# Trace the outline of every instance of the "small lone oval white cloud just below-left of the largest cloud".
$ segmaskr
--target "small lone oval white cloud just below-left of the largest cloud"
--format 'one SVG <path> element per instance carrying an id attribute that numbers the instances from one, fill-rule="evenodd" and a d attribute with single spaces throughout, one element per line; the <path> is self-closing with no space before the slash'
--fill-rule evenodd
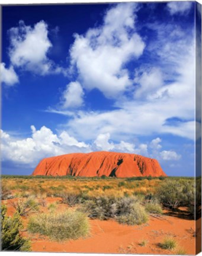
<path id="1" fill-rule="evenodd" d="M 70 82 L 62 93 L 61 104 L 62 108 L 81 107 L 84 100 L 84 91 L 79 82 Z"/>

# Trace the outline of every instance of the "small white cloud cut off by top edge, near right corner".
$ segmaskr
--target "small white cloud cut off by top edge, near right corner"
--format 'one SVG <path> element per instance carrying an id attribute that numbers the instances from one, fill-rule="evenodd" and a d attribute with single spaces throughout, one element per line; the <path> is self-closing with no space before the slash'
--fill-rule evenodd
<path id="1" fill-rule="evenodd" d="M 171 1 L 168 2 L 167 7 L 171 15 L 174 14 L 185 14 L 190 11 L 192 2 L 189 1 Z"/>

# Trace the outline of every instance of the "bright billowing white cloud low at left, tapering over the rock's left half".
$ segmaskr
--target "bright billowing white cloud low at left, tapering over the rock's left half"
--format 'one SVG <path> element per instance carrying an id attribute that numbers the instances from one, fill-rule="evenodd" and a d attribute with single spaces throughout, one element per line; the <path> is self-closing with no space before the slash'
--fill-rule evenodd
<path id="1" fill-rule="evenodd" d="M 12 161 L 36 167 L 40 159 L 45 157 L 90 151 L 88 145 L 84 142 L 78 142 L 66 132 L 57 136 L 46 126 L 41 127 L 40 130 L 31 126 L 31 131 L 30 137 L 20 139 L 1 130 L 2 161 Z"/>

